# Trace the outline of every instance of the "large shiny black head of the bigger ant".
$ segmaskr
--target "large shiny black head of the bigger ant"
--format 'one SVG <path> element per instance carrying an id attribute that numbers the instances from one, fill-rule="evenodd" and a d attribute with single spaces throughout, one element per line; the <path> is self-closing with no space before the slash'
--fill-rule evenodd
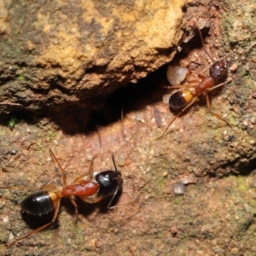
<path id="1" fill-rule="evenodd" d="M 102 197 L 113 195 L 111 201 L 108 203 L 108 208 L 110 208 L 113 198 L 117 195 L 123 183 L 123 178 L 121 177 L 121 173 L 117 171 L 113 155 L 112 160 L 115 171 L 100 172 L 95 177 L 96 182 L 100 186 L 99 195 L 102 195 Z"/>

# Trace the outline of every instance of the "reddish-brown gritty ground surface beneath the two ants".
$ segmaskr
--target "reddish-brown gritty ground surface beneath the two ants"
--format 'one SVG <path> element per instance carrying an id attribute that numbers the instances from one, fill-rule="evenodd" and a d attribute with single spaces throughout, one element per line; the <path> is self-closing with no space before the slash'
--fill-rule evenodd
<path id="1" fill-rule="evenodd" d="M 162 86 L 168 85 L 165 67 L 108 96 L 103 110 L 91 115 L 93 129 L 83 108 L 64 114 L 47 108 L 44 118 L 1 116 L 0 186 L 23 186 L 0 189 L 1 255 L 256 254 L 256 47 L 250 48 L 256 42 L 256 3 L 189 3 L 187 43 L 172 65 L 183 63 L 191 73 L 207 75 L 203 70 L 212 60 L 195 36 L 199 21 L 213 60 L 234 61 L 229 83 L 211 92 L 212 111 L 230 125 L 209 113 L 202 96 L 157 140 L 176 114 L 161 101 L 166 92 L 173 93 Z M 67 183 L 87 173 L 96 155 L 95 171 L 113 169 L 113 153 L 124 179 L 117 207 L 106 210 L 110 199 L 95 205 L 78 201 L 83 221 L 74 222 L 73 205 L 63 198 L 53 228 L 7 248 L 31 230 L 28 225 L 35 228 L 52 217 L 29 216 L 28 222 L 20 215 L 27 195 L 45 184 L 61 185 L 49 148 L 67 173 Z M 179 195 L 173 193 L 177 183 L 186 186 Z"/>

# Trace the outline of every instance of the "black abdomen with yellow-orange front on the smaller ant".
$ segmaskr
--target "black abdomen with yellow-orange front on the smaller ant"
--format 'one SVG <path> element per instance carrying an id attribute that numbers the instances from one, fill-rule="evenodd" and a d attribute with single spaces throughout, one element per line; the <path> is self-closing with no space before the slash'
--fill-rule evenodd
<path id="1" fill-rule="evenodd" d="M 189 102 L 191 102 L 193 98 L 193 93 L 191 90 L 178 90 L 169 99 L 169 106 L 171 108 L 183 108 Z"/>

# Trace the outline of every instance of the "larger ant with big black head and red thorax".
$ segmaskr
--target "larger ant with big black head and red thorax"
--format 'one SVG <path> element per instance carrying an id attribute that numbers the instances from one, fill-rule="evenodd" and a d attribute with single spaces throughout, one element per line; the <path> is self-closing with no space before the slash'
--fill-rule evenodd
<path id="1" fill-rule="evenodd" d="M 61 164 L 50 148 L 49 152 L 61 169 L 62 182 L 64 183 L 64 186 L 44 185 L 42 187 L 44 190 L 28 195 L 21 202 L 21 211 L 35 216 L 41 216 L 54 211 L 54 216 L 49 223 L 44 224 L 36 230 L 32 230 L 30 233 L 26 234 L 26 236 L 16 239 L 11 242 L 8 247 L 15 245 L 16 242 L 25 239 L 27 236 L 32 236 L 38 231 L 44 230 L 50 224 L 54 224 L 60 210 L 62 197 L 68 197 L 75 207 L 75 214 L 78 218 L 78 205 L 76 201 L 74 201 L 73 196 L 78 196 L 82 201 L 93 204 L 112 195 L 111 200 L 108 202 L 108 209 L 110 209 L 114 198 L 122 188 L 123 179 L 121 177 L 121 173 L 117 171 L 113 154 L 112 161 L 114 171 L 108 170 L 104 172 L 92 172 L 95 157 L 91 161 L 88 174 L 76 177 L 72 184 L 67 185 L 66 176 L 64 175 L 64 170 L 61 167 Z M 14 187 L 5 187 L 0 189 L 13 188 Z"/>

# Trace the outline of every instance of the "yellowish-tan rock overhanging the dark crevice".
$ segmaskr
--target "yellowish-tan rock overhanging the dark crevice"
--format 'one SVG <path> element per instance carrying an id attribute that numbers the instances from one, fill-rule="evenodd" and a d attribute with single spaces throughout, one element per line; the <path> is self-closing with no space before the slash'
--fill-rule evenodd
<path id="1" fill-rule="evenodd" d="M 2 2 L 0 101 L 102 108 L 115 88 L 172 60 L 185 3 Z"/>

